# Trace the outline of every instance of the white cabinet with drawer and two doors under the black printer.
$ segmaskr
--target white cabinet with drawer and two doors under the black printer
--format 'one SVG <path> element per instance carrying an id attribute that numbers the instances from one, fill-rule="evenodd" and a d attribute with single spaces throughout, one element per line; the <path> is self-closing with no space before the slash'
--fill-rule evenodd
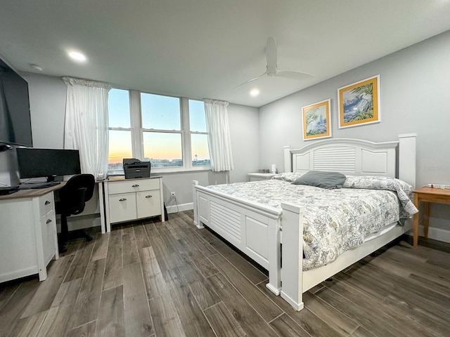
<path id="1" fill-rule="evenodd" d="M 162 178 L 105 180 L 106 231 L 111 223 L 161 216 L 164 221 Z"/>

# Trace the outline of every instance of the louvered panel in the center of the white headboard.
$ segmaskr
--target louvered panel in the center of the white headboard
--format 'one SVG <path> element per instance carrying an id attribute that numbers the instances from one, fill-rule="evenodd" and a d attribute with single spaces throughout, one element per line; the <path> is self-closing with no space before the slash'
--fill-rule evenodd
<path id="1" fill-rule="evenodd" d="M 314 151 L 314 170 L 354 172 L 356 150 L 354 147 L 327 147 Z"/>

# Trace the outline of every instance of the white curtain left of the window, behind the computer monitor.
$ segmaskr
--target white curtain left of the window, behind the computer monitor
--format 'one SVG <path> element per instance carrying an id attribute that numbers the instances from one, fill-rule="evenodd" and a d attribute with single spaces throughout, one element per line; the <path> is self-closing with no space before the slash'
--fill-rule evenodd
<path id="1" fill-rule="evenodd" d="M 68 85 L 64 148 L 79 150 L 82 173 L 108 172 L 108 84 L 63 77 Z"/>

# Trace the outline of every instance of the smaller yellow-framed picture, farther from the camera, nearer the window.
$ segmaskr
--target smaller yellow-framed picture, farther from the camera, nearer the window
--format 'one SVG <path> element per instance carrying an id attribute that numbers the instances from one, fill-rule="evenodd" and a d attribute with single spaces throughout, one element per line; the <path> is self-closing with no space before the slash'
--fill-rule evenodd
<path id="1" fill-rule="evenodd" d="M 302 107 L 303 140 L 331 137 L 331 100 Z"/>

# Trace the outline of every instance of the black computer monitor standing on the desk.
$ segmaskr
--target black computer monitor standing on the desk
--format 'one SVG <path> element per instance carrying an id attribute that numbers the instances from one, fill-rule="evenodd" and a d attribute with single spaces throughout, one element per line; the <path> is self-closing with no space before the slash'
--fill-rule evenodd
<path id="1" fill-rule="evenodd" d="M 18 147 L 17 161 L 20 179 L 71 176 L 81 173 L 78 150 L 53 150 Z"/>

